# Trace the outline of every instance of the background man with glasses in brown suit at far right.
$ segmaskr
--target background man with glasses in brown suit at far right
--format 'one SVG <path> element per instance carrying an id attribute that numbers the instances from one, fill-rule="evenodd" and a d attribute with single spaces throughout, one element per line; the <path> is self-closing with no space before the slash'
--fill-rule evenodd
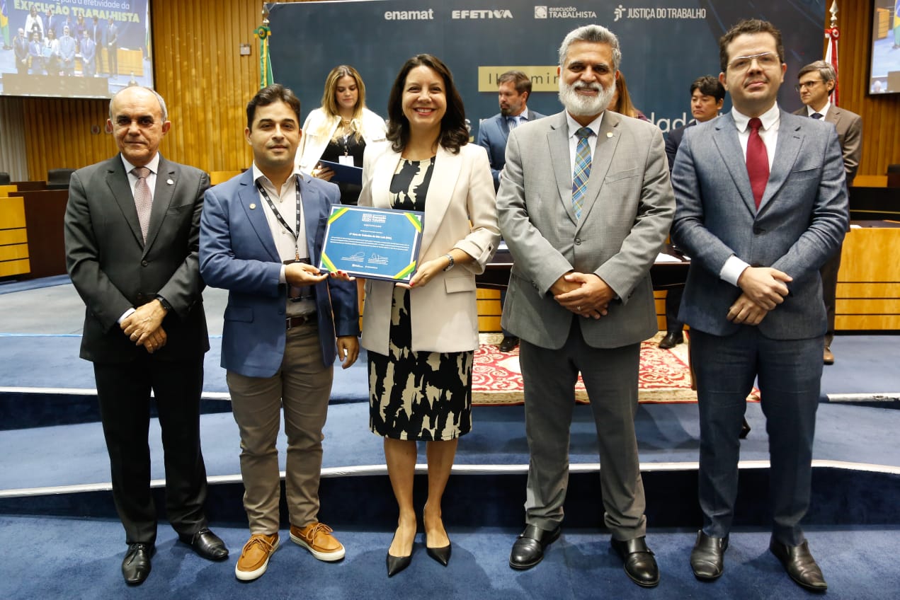
<path id="1" fill-rule="evenodd" d="M 838 141 L 841 143 L 841 151 L 844 159 L 844 175 L 847 176 L 847 188 L 853 184 L 856 171 L 860 168 L 860 155 L 862 154 L 862 117 L 855 112 L 838 108 L 831 103 L 829 96 L 837 85 L 837 75 L 834 67 L 824 60 L 816 60 L 800 69 L 797 74 L 799 83 L 797 91 L 800 93 L 800 101 L 806 106 L 794 112 L 813 119 L 833 123 L 838 131 Z M 834 340 L 834 304 L 838 288 L 838 271 L 841 269 L 842 246 L 829 258 L 819 273 L 822 275 L 822 299 L 825 302 L 825 310 L 828 313 L 828 331 L 825 332 L 825 348 L 823 362 L 834 363 L 832 342 Z"/>

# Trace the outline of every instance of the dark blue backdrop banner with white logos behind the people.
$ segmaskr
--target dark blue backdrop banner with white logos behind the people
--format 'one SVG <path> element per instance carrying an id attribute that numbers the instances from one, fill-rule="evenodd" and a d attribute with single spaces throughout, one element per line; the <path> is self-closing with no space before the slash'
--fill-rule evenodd
<path id="1" fill-rule="evenodd" d="M 553 114 L 558 49 L 565 34 L 598 23 L 617 34 L 622 72 L 635 106 L 668 131 L 690 119 L 689 87 L 718 76 L 718 39 L 755 17 L 781 30 L 788 73 L 779 94 L 786 110 L 801 106 L 797 71 L 823 56 L 824 0 L 363 0 L 266 4 L 275 81 L 293 89 L 303 116 L 318 108 L 329 70 L 347 64 L 365 81 L 368 107 L 386 116 L 394 77 L 407 58 L 434 54 L 454 73 L 466 117 L 478 123 L 500 112 L 496 77 L 518 68 L 532 78 L 528 107 Z M 725 100 L 725 109 L 730 103 Z"/>

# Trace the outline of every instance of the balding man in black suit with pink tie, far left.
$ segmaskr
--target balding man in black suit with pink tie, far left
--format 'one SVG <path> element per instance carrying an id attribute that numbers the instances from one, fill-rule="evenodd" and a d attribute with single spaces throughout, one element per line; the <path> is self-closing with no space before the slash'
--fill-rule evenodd
<path id="1" fill-rule="evenodd" d="M 209 350 L 197 265 L 202 198 L 210 181 L 163 158 L 171 123 L 156 92 L 112 97 L 121 154 L 78 169 L 69 184 L 66 262 L 85 300 L 81 357 L 94 363 L 112 497 L 129 550 L 129 584 L 150 572 L 157 515 L 147 442 L 152 390 L 166 454 L 166 514 L 182 542 L 205 559 L 228 557 L 207 527 L 200 450 L 203 353 Z"/>

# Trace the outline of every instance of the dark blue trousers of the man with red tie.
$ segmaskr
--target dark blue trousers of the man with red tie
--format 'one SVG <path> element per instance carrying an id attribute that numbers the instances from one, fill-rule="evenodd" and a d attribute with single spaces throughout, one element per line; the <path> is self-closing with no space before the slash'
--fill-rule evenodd
<path id="1" fill-rule="evenodd" d="M 822 337 L 775 340 L 750 326 L 731 336 L 712 336 L 697 329 L 690 333 L 700 412 L 703 531 L 725 537 L 731 530 L 737 497 L 738 434 L 747 395 L 756 379 L 769 434 L 772 534 L 782 543 L 802 543 L 800 520 L 809 507 Z"/>

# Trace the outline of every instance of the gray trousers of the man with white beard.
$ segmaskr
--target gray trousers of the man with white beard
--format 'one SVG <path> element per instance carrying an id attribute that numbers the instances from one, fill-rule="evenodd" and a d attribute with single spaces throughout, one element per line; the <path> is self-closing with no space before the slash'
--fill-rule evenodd
<path id="1" fill-rule="evenodd" d="M 522 340 L 528 468 L 526 522 L 552 530 L 563 521 L 569 483 L 569 431 L 578 373 L 590 398 L 599 439 L 604 522 L 617 540 L 646 531 L 644 482 L 637 456 L 635 412 L 640 344 L 593 348 L 578 317 L 565 345 L 550 350 Z"/>

